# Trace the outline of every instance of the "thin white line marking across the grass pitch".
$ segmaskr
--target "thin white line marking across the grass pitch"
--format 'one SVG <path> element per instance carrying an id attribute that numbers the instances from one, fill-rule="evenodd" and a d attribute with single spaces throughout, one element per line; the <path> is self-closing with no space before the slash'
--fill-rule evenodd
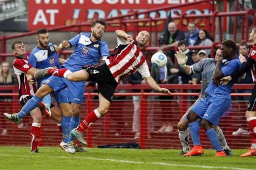
<path id="1" fill-rule="evenodd" d="M 213 169 L 245 169 L 246 168 L 234 168 L 234 167 L 221 167 L 221 166 L 199 166 L 199 165 L 182 165 L 182 164 L 167 164 L 164 162 L 136 162 L 136 161 L 129 161 L 129 160 L 118 160 L 118 159 L 104 159 L 104 158 L 91 158 L 91 157 L 55 157 L 55 156 L 37 156 L 37 155 L 10 155 L 10 154 L 0 154 L 0 156 L 3 157 L 25 157 L 25 158 L 63 158 L 63 159 L 69 159 L 69 158 L 75 158 L 75 159 L 89 159 L 89 160 L 103 160 L 103 161 L 112 161 L 112 162 L 123 162 L 127 164 L 152 164 L 152 165 L 164 165 L 164 166 L 182 166 L 182 167 L 195 167 L 195 168 L 213 168 Z"/>

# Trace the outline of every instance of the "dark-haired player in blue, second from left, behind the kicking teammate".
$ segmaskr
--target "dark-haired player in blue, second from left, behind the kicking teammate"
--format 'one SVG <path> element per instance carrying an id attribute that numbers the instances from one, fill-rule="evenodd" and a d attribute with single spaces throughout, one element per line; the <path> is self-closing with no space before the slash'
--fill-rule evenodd
<path id="1" fill-rule="evenodd" d="M 44 28 L 38 29 L 36 40 L 38 44 L 32 49 L 32 52 L 29 55 L 29 64 L 33 68 L 39 69 L 48 67 L 60 68 L 60 64 L 63 64 L 65 60 L 58 58 L 55 47 L 53 44 L 49 43 L 50 37 L 48 30 Z M 41 87 L 49 77 L 50 76 L 45 76 L 42 79 L 38 79 L 38 88 Z M 68 140 L 70 135 L 69 126 L 71 120 L 71 106 L 68 100 L 68 89 L 63 89 L 58 93 L 53 93 L 53 95 L 55 96 L 57 104 L 63 113 L 60 123 L 62 127 L 63 141 L 59 144 L 59 146 L 68 152 Z M 43 102 L 39 103 L 39 108 L 43 111 L 50 112 L 50 106 L 51 96 L 48 94 L 44 96 Z"/>

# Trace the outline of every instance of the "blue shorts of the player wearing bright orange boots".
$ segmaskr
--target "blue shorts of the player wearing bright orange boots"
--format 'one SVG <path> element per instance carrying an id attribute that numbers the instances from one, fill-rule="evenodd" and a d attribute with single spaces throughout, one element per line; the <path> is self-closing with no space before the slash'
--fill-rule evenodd
<path id="1" fill-rule="evenodd" d="M 218 126 L 221 116 L 230 107 L 231 100 L 207 96 L 199 101 L 193 108 L 200 118 L 206 119 L 213 125 Z"/>

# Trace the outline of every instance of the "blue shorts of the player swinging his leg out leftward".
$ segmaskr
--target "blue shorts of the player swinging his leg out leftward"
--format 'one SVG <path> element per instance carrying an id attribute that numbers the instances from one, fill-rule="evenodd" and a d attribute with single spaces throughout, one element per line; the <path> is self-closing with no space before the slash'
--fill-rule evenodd
<path id="1" fill-rule="evenodd" d="M 84 98 L 85 81 L 82 81 L 82 82 L 68 81 L 62 77 L 51 76 L 44 83 L 50 86 L 51 89 L 55 92 L 62 91 L 63 89 L 68 87 L 69 102 L 82 104 L 83 98 Z"/>

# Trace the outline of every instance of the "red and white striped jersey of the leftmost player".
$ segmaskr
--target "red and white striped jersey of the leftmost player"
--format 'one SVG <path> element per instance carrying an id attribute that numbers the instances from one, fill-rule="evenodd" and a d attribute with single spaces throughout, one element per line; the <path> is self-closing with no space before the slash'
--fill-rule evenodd
<path id="1" fill-rule="evenodd" d="M 32 66 L 28 64 L 28 56 L 26 56 L 26 58 L 24 59 L 19 56 L 16 56 L 12 64 L 14 66 L 14 72 L 19 85 L 19 100 L 27 96 L 35 95 L 35 83 L 29 84 L 28 80 L 26 79 L 26 72 L 28 72 L 28 70 L 32 68 Z"/>

